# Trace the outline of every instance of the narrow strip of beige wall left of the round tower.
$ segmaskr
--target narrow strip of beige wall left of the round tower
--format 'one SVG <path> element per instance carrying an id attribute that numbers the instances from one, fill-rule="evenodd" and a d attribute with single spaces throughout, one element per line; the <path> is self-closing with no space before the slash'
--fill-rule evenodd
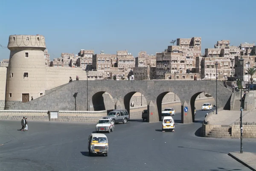
<path id="1" fill-rule="evenodd" d="M 6 74 L 7 74 L 7 68 L 0 67 L 0 110 L 4 110 L 4 106 L 5 106 Z"/>

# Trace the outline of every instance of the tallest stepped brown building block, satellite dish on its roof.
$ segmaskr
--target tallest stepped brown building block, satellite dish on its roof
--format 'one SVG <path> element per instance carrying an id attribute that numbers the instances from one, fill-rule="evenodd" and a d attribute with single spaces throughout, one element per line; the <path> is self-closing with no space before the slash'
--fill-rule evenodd
<path id="1" fill-rule="evenodd" d="M 201 56 L 201 38 L 177 38 L 177 46 L 168 46 L 164 52 L 156 54 L 157 79 L 165 79 L 166 74 L 196 72 L 195 59 L 199 56 Z"/>

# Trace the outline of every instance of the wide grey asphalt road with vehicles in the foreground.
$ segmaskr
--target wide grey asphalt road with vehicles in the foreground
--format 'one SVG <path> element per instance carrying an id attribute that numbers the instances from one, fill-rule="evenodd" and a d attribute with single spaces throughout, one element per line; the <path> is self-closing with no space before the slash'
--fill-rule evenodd
<path id="1" fill-rule="evenodd" d="M 176 123 L 175 132 L 161 132 L 161 122 L 117 124 L 106 133 L 108 157 L 88 156 L 95 124 L 29 122 L 22 132 L 19 121 L 0 121 L 0 171 L 250 171 L 227 155 L 239 151 L 239 139 L 195 135 L 205 113 L 197 111 L 197 123 Z M 244 151 L 256 152 L 255 142 L 244 139 Z"/>

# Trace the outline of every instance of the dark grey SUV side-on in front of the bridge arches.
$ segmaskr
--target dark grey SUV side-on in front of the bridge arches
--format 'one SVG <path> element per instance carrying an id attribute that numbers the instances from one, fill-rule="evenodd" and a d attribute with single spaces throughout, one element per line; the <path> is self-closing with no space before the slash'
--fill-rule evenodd
<path id="1" fill-rule="evenodd" d="M 103 117 L 103 119 L 111 119 L 113 120 L 114 124 L 118 122 L 122 122 L 126 124 L 130 121 L 130 116 L 126 109 L 115 109 L 108 113 L 108 116 Z"/>

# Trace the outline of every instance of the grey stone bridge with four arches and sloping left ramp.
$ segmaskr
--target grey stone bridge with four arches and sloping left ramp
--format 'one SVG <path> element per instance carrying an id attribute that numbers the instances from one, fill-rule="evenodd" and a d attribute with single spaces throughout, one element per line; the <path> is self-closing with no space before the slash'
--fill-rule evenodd
<path id="1" fill-rule="evenodd" d="M 163 97 L 169 93 L 175 93 L 181 102 L 181 122 L 194 122 L 194 106 L 196 97 L 202 93 L 209 93 L 217 100 L 218 109 L 230 110 L 232 89 L 224 87 L 221 81 L 169 81 L 169 80 L 145 80 L 145 81 L 73 81 L 52 90 L 46 95 L 26 103 L 15 103 L 9 107 L 13 110 L 94 110 L 93 105 L 102 101 L 102 94 L 107 92 L 113 97 L 115 109 L 127 109 L 130 111 L 130 99 L 134 93 L 142 93 L 148 104 L 149 122 L 160 120 Z M 88 96 L 87 96 L 88 92 Z M 188 111 L 184 111 L 188 107 Z"/>

